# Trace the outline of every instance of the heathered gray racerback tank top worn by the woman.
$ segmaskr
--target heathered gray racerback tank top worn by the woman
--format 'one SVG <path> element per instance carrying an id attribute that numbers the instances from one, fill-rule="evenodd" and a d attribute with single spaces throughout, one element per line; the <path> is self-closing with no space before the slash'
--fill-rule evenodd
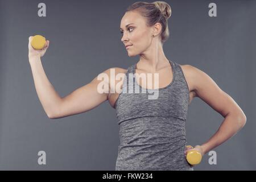
<path id="1" fill-rule="evenodd" d="M 170 64 L 172 81 L 159 89 L 142 88 L 135 77 L 130 82 L 136 64 L 127 69 L 127 81 L 114 105 L 120 139 L 115 170 L 193 171 L 184 155 L 188 85 L 180 65 L 171 60 Z M 158 98 L 148 99 L 157 90 Z"/>

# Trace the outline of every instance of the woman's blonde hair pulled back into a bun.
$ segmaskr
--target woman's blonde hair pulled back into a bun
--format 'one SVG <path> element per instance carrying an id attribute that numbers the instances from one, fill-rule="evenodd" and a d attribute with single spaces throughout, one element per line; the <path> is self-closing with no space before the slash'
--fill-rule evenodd
<path id="1" fill-rule="evenodd" d="M 138 11 L 144 18 L 146 18 L 146 24 L 148 27 L 153 26 L 155 23 L 162 25 L 161 42 L 162 44 L 170 36 L 168 30 L 168 19 L 171 17 L 171 6 L 164 1 L 148 2 L 135 2 L 130 5 L 127 11 Z"/>

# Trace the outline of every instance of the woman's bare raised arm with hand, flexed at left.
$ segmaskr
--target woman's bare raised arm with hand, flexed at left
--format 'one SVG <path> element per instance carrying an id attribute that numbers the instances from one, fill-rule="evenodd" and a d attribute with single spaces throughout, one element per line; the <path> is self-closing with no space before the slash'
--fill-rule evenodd
<path id="1" fill-rule="evenodd" d="M 89 84 L 61 98 L 53 88 L 51 82 L 49 82 L 40 59 L 49 47 L 49 41 L 47 40 L 46 46 L 42 50 L 35 50 L 31 47 L 31 40 L 32 37 L 29 38 L 28 43 L 28 59 L 31 65 L 36 92 L 49 118 L 61 118 L 83 113 L 108 100 L 108 93 L 99 93 L 97 91 L 98 83 L 102 82 L 101 80 L 97 80 L 97 77 Z M 110 69 L 103 73 L 108 75 Z M 108 83 L 106 84 L 109 85 Z"/>

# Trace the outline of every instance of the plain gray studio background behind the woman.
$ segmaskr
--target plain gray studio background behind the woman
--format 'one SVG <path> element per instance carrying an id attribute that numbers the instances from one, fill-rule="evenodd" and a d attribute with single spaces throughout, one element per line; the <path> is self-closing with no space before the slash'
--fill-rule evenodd
<path id="1" fill-rule="evenodd" d="M 47 16 L 37 14 L 38 3 Z M 108 101 L 86 113 L 49 119 L 36 94 L 28 37 L 50 40 L 42 57 L 44 71 L 61 97 L 88 84 L 105 69 L 127 69 L 139 57 L 127 56 L 119 26 L 135 1 L 0 1 L 0 169 L 114 170 L 119 136 L 115 110 Z M 151 1 L 152 2 L 152 1 Z M 255 170 L 256 1 L 166 1 L 170 39 L 168 59 L 207 73 L 245 112 L 247 123 L 233 138 L 214 148 L 195 170 Z M 217 17 L 208 5 L 217 4 Z M 187 117 L 187 142 L 207 141 L 223 117 L 195 98 Z M 38 151 L 46 151 L 46 165 Z"/>

